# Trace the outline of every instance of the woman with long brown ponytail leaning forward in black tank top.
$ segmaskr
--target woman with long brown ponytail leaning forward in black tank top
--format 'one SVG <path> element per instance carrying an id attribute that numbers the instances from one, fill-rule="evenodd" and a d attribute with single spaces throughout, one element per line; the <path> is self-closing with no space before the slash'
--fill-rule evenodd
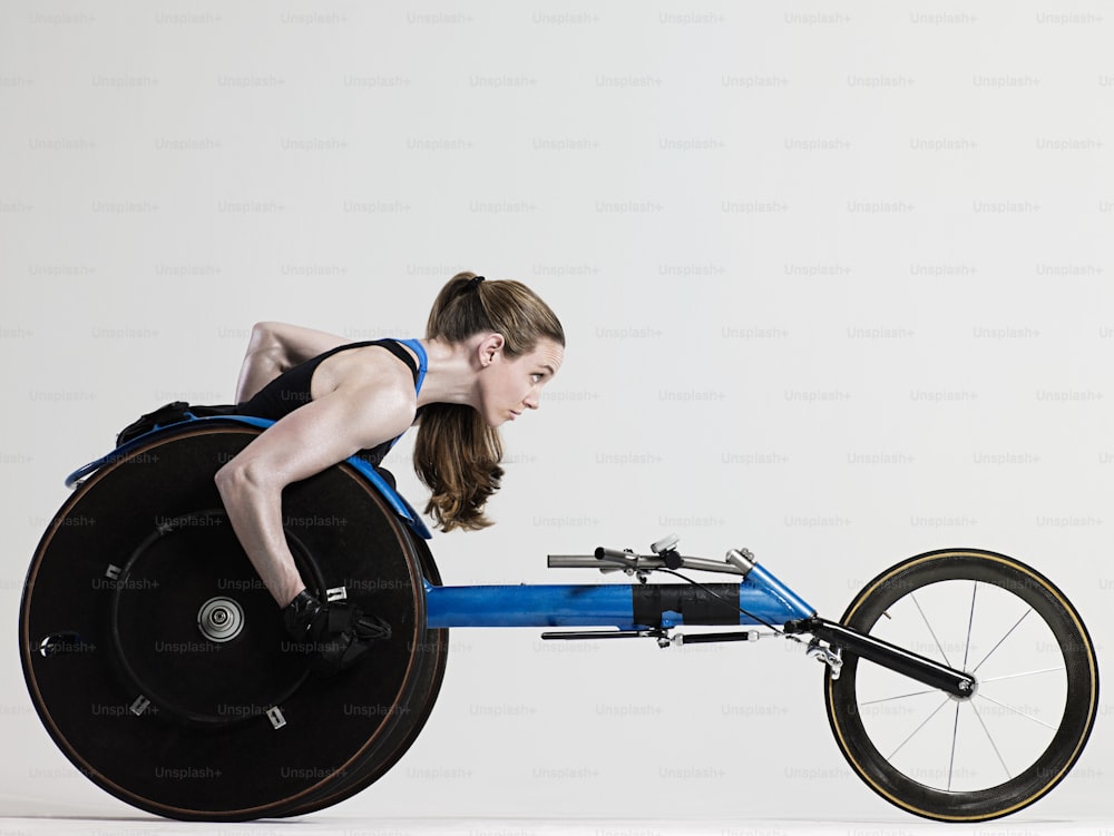
<path id="1" fill-rule="evenodd" d="M 564 358 L 554 312 L 512 281 L 460 273 L 433 302 L 423 340 L 348 343 L 260 323 L 236 391 L 236 412 L 274 420 L 216 473 L 228 519 L 287 631 L 324 675 L 352 665 L 389 627 L 311 592 L 282 525 L 283 488 L 353 454 L 379 465 L 417 423 L 413 462 L 446 531 L 490 524 L 499 488 L 497 427 L 539 405 Z"/>

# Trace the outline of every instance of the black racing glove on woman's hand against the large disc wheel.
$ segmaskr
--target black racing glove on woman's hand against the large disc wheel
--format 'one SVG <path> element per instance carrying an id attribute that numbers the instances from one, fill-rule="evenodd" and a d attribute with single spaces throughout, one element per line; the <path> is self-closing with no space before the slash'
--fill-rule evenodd
<path id="1" fill-rule="evenodd" d="M 391 628 L 380 618 L 363 614 L 346 601 L 322 602 L 307 589 L 283 610 L 286 632 L 314 655 L 311 668 L 331 677 L 355 665 L 377 639 L 391 638 Z"/>

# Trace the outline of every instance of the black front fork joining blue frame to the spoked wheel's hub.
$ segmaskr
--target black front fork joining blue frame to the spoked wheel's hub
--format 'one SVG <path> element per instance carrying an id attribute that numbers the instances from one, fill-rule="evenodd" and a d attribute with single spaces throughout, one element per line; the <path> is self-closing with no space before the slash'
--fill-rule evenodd
<path id="1" fill-rule="evenodd" d="M 786 621 L 784 630 L 789 635 L 811 633 L 814 638 L 809 645 L 810 657 L 819 658 L 829 665 L 832 678 L 839 677 L 843 665 L 843 652 L 862 659 L 869 659 L 876 665 L 902 673 L 918 682 L 956 697 L 970 699 L 975 696 L 975 677 L 961 670 L 940 665 L 924 656 L 890 645 L 888 641 L 859 632 L 851 627 L 829 621 L 813 616 L 798 621 Z M 828 647 L 819 645 L 818 640 L 827 641 Z"/>

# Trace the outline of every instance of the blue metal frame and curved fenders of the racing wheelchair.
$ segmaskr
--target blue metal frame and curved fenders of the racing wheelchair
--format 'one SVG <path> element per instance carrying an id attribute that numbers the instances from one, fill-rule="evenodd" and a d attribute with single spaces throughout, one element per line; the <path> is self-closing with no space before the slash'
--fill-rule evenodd
<path id="1" fill-rule="evenodd" d="M 68 488 L 99 468 L 124 458 L 152 439 L 198 422 L 234 421 L 266 429 L 273 421 L 248 415 L 197 417 L 186 413 L 184 421 L 158 426 L 116 447 L 111 453 L 78 468 L 66 478 Z M 413 508 L 368 462 L 346 460 L 383 496 L 391 509 L 422 539 L 430 532 Z M 431 628 L 442 627 L 618 627 L 620 629 L 672 628 L 686 623 L 680 612 L 667 610 L 653 624 L 635 621 L 635 590 L 639 584 L 504 584 L 442 587 L 424 582 L 426 620 Z M 740 624 L 784 624 L 811 618 L 817 611 L 762 565 L 755 565 L 739 584 Z M 701 623 L 688 620 L 687 623 Z M 722 623 L 722 621 L 716 621 Z"/>

